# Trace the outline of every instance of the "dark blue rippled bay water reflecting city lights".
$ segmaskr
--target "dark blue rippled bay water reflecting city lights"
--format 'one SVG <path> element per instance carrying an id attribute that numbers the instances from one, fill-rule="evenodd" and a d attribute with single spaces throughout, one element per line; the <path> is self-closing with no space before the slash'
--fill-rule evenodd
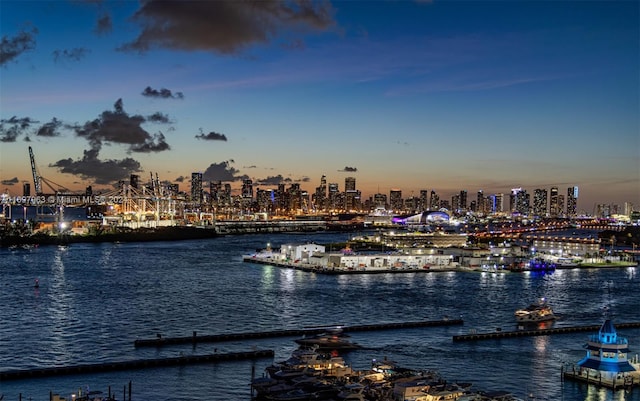
<path id="1" fill-rule="evenodd" d="M 344 241 L 346 234 L 231 236 L 213 240 L 72 244 L 0 249 L 0 369 L 21 369 L 273 349 L 289 356 L 294 338 L 135 348 L 137 338 L 298 329 L 316 325 L 462 318 L 462 326 L 353 333 L 366 348 L 346 359 L 365 369 L 388 357 L 435 369 L 476 389 L 538 400 L 639 401 L 627 394 L 561 382 L 563 362 L 584 355 L 592 333 L 456 342 L 452 336 L 515 329 L 513 311 L 547 297 L 555 327 L 640 321 L 638 268 L 532 273 L 403 273 L 323 276 L 243 263 L 267 243 Z M 38 279 L 39 288 L 34 288 Z M 640 329 L 619 330 L 640 352 Z M 45 401 L 87 385 L 134 400 L 249 400 L 251 371 L 272 362 L 233 361 L 0 382 L 4 401 Z"/>

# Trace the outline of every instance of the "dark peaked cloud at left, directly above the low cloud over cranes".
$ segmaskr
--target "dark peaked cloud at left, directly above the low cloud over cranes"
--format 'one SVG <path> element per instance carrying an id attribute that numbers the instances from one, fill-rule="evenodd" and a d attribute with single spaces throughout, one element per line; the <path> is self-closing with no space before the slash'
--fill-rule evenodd
<path id="1" fill-rule="evenodd" d="M 76 135 L 87 139 L 98 151 L 105 142 L 129 145 L 132 152 L 170 149 L 162 133 L 151 135 L 141 127 L 147 121 L 143 116 L 129 115 L 124 111 L 122 99 L 118 99 L 113 107 L 114 111 L 103 111 L 99 118 L 76 127 Z"/>

